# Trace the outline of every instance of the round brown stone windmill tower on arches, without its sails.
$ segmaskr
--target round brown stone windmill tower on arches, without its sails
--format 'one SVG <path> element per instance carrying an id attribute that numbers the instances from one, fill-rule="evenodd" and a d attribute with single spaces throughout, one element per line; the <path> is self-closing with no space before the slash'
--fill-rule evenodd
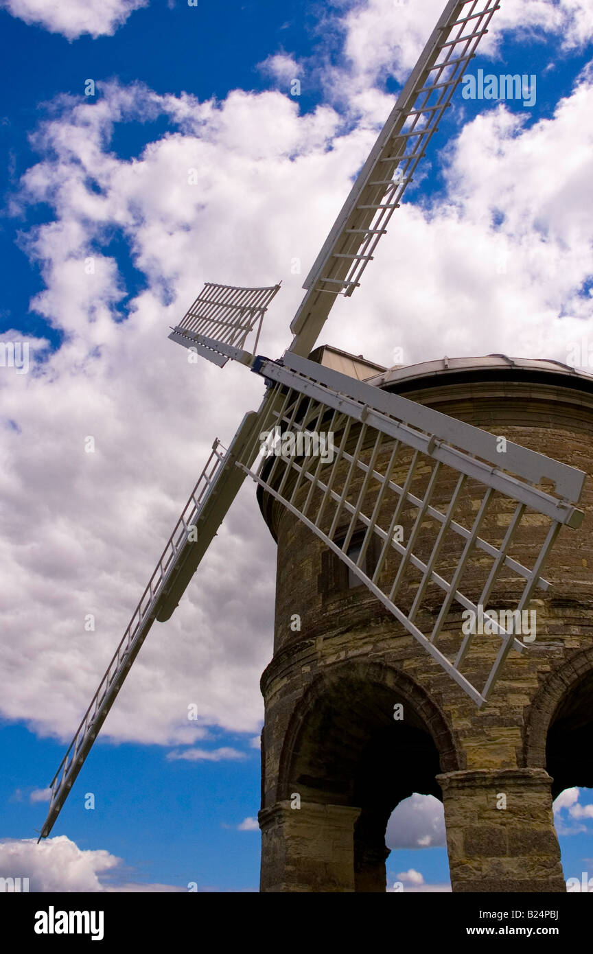
<path id="1" fill-rule="evenodd" d="M 359 359 L 331 348 L 315 357 L 350 364 L 353 375 L 364 371 Z M 381 390 L 592 475 L 592 375 L 504 355 L 366 371 Z M 428 479 L 420 469 L 411 494 L 422 499 Z M 362 480 L 361 474 L 352 499 Z M 413 792 L 444 803 L 454 891 L 565 890 L 552 799 L 573 785 L 593 787 L 593 764 L 583 755 L 593 742 L 592 486 L 586 482 L 583 527 L 577 537 L 562 530 L 546 565 L 549 588 L 529 604 L 525 629 L 535 623 L 535 632 L 523 633 L 524 652 L 509 655 L 481 709 L 334 553 L 265 491 L 259 494 L 278 546 L 274 658 L 261 680 L 263 891 L 385 891 L 385 828 Z M 451 496 L 445 481 L 432 504 L 445 513 Z M 480 506 L 481 495 L 461 493 L 464 527 Z M 401 518 L 404 539 L 417 513 Z M 510 508 L 494 514 L 501 534 L 512 519 Z M 438 531 L 431 532 L 430 519 L 422 523 L 428 563 Z M 528 560 L 539 548 L 543 525 L 541 514 L 526 518 L 516 557 Z M 343 533 L 344 527 L 337 539 Z M 352 537 L 353 559 L 361 538 L 360 530 Z M 377 550 L 367 551 L 368 573 L 376 561 Z M 447 563 L 441 559 L 443 572 Z M 478 557 L 468 568 L 466 592 L 481 591 L 484 563 L 490 561 Z M 511 574 L 502 575 L 499 599 L 489 604 L 498 610 L 517 605 Z M 399 607 L 413 605 L 421 579 L 410 574 Z M 440 602 L 425 600 L 417 617 L 423 633 L 433 630 Z M 299 632 L 291 623 L 295 612 Z M 440 645 L 459 646 L 461 616 L 459 606 Z M 487 630 L 478 622 L 480 628 Z M 478 682 L 500 644 L 487 633 L 475 640 L 480 645 L 465 672 Z"/>

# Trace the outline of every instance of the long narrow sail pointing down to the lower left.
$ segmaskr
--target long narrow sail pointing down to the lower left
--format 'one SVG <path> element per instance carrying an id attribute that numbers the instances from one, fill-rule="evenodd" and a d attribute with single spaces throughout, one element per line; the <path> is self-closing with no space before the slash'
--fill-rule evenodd
<path id="1" fill-rule="evenodd" d="M 174 612 L 182 593 L 212 542 L 215 532 L 233 503 L 245 473 L 236 460 L 251 460 L 256 454 L 255 435 L 259 415 L 246 414 L 228 450 L 215 441 L 206 467 L 188 500 L 167 546 L 142 594 L 132 619 L 113 653 L 106 673 L 92 696 L 91 705 L 76 730 L 68 751 L 51 779 L 51 802 L 40 839 L 47 838 L 92 743 L 112 708 L 124 679 L 154 620 L 162 622 Z M 254 451 L 250 453 L 250 448 Z"/>

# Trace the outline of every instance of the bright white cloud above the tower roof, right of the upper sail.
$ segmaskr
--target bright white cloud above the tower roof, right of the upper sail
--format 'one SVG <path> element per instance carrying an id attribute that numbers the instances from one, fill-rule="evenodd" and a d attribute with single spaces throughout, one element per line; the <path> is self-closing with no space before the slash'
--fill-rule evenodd
<path id="1" fill-rule="evenodd" d="M 404 363 L 501 352 L 567 361 L 591 317 L 582 288 L 593 238 L 583 203 L 593 171 L 592 90 L 583 75 L 552 119 L 528 128 L 501 107 L 463 128 L 446 157 L 446 196 L 424 211 L 410 195 L 378 247 L 373 278 L 365 275 L 358 315 L 373 316 L 368 357 L 380 362 L 399 345 Z M 341 346 L 358 353 L 351 321 Z"/>

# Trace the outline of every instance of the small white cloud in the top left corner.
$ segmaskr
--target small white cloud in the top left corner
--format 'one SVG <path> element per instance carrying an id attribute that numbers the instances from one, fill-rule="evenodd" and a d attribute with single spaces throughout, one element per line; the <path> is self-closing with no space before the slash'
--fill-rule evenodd
<path id="1" fill-rule="evenodd" d="M 25 23 L 62 33 L 75 40 L 83 33 L 111 36 L 126 22 L 133 10 L 148 6 L 149 0 L 2 0 L 2 6 Z"/>

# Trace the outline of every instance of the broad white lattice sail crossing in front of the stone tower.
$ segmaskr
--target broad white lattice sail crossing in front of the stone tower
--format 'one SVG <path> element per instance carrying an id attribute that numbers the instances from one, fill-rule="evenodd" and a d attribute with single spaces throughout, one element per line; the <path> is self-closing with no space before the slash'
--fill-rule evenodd
<path id="1" fill-rule="evenodd" d="M 482 706 L 506 655 L 523 644 L 514 626 L 494 620 L 501 647 L 479 687 L 461 672 L 476 633 L 459 635 L 451 657 L 460 626 L 445 628 L 456 612 L 477 620 L 512 600 L 514 620 L 536 588 L 547 589 L 542 568 L 560 529 L 583 519 L 583 472 L 294 354 L 284 365 L 258 360 L 254 370 L 276 383 L 262 426 L 279 429 L 280 450 L 276 442 L 272 460 L 238 467 L 337 553 Z M 317 437 L 317 453 L 298 451 L 303 434 L 309 444 Z M 293 449 L 283 451 L 291 436 Z M 441 636 L 449 654 L 437 645 Z"/>

